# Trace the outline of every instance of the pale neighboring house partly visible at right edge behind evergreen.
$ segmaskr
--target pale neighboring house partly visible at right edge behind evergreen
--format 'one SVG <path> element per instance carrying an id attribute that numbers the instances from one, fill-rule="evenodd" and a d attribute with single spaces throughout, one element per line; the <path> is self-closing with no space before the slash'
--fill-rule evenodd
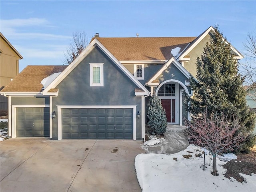
<path id="1" fill-rule="evenodd" d="M 246 101 L 250 109 L 256 113 L 256 82 L 252 85 L 244 86 L 246 90 Z M 254 128 L 254 133 L 256 134 L 256 124 Z"/>

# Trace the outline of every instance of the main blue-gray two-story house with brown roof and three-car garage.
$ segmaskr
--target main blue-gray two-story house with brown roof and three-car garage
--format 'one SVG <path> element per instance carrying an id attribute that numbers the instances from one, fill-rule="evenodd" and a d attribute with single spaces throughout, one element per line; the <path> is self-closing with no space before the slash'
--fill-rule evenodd
<path id="1" fill-rule="evenodd" d="M 27 66 L 2 94 L 14 137 L 145 138 L 148 96 L 156 94 L 168 124 L 189 118 L 190 73 L 214 28 L 198 37 L 100 38 L 69 66 Z M 237 59 L 243 56 L 232 47 Z"/>

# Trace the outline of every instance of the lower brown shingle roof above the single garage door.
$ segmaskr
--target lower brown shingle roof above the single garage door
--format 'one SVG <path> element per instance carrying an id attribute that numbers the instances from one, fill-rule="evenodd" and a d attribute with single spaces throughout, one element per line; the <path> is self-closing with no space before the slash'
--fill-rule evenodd
<path id="1" fill-rule="evenodd" d="M 67 66 L 27 66 L 1 92 L 41 92 L 41 81 L 51 74 L 62 72 Z"/>

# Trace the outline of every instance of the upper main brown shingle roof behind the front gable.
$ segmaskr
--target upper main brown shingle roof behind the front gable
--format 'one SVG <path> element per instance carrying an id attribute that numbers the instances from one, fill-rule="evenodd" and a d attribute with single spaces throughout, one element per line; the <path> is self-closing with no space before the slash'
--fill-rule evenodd
<path id="1" fill-rule="evenodd" d="M 97 37 L 96 39 L 119 61 L 127 61 L 169 60 L 172 58 L 172 49 L 180 47 L 182 52 L 196 37 Z"/>

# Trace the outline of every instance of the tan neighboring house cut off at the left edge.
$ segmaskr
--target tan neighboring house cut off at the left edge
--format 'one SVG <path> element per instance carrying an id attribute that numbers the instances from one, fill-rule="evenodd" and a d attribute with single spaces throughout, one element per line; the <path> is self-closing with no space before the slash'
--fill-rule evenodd
<path id="1" fill-rule="evenodd" d="M 19 60 L 23 57 L 0 32 L 0 90 L 19 74 Z M 8 98 L 0 96 L 1 114 L 8 110 Z"/>

